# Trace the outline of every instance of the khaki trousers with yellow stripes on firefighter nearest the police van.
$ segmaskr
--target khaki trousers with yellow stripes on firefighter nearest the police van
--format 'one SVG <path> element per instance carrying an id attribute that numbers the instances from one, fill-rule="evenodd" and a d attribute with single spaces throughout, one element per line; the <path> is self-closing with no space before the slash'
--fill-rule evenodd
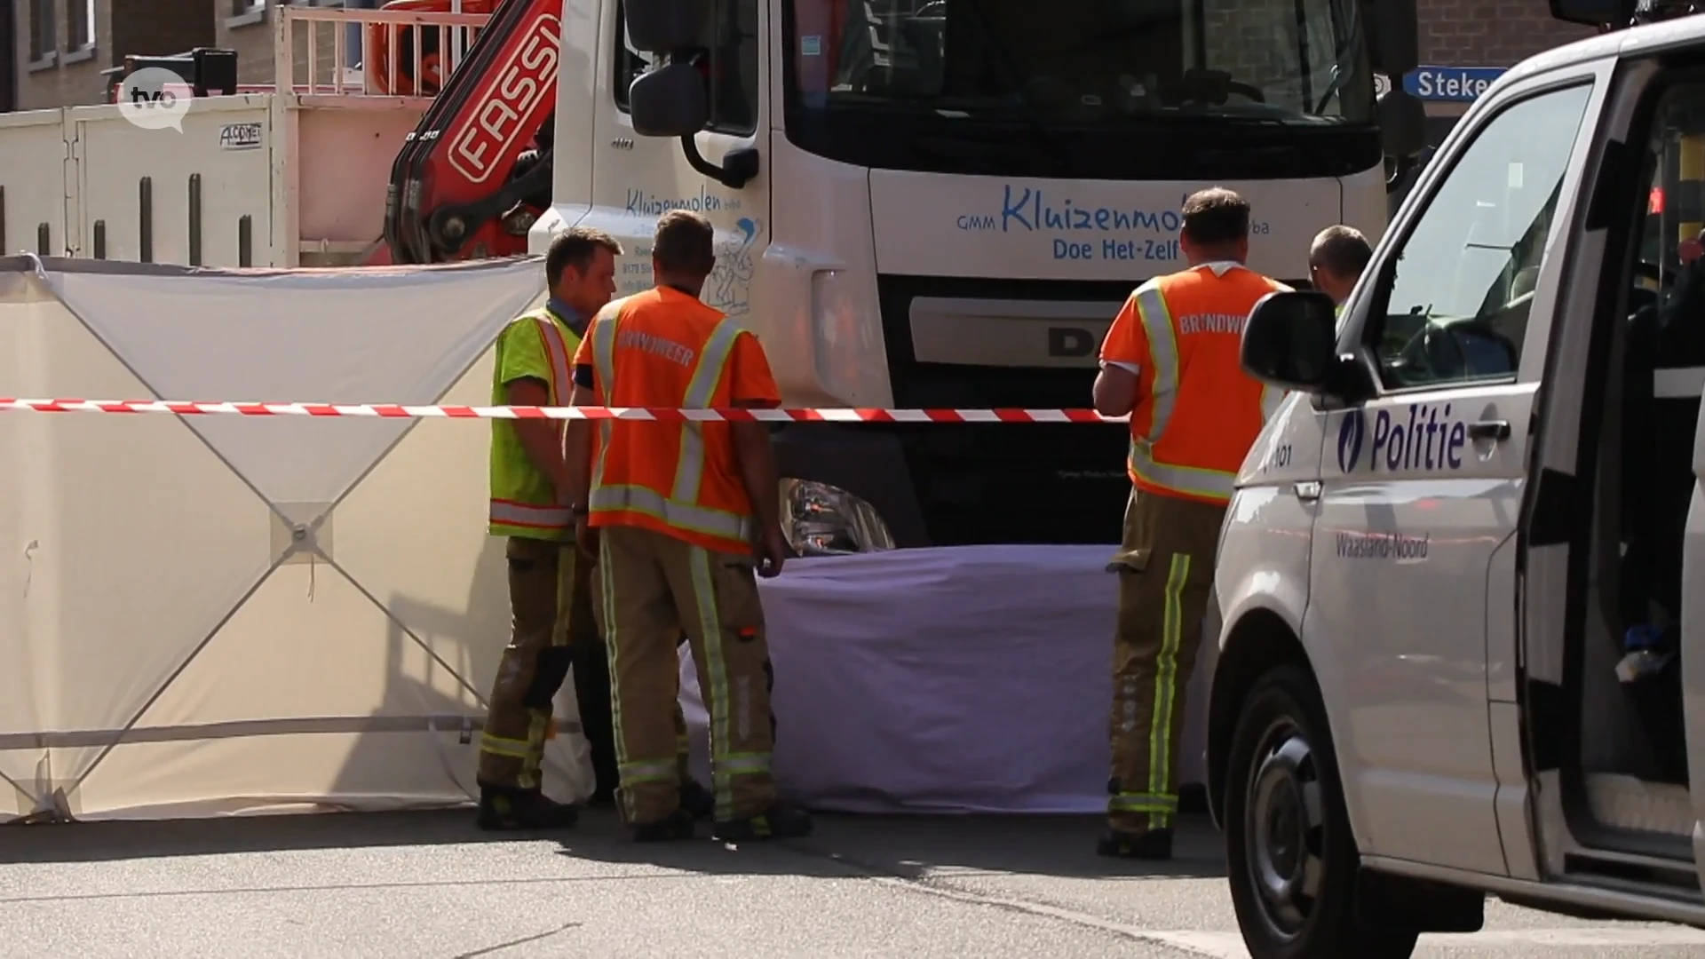
<path id="1" fill-rule="evenodd" d="M 1113 770 L 1108 822 L 1122 833 L 1171 828 L 1178 812 L 1183 696 L 1214 585 L 1226 507 L 1134 490 L 1118 573 L 1113 636 Z"/>

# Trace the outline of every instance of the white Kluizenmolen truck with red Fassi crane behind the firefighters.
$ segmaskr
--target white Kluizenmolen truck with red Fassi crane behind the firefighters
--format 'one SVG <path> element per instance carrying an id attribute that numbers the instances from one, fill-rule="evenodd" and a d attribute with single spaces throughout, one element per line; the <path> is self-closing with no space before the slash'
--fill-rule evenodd
<path id="1" fill-rule="evenodd" d="M 387 174 L 404 198 L 447 189 L 450 171 L 493 174 L 554 82 L 551 205 L 530 251 L 602 227 L 634 292 L 656 217 L 687 206 L 723 244 L 706 299 L 759 333 L 789 406 L 1081 408 L 1120 302 L 1182 266 L 1188 191 L 1248 196 L 1251 266 L 1303 282 L 1321 227 L 1381 234 L 1388 157 L 1422 145 L 1420 104 L 1374 89 L 1415 65 L 1413 0 L 506 0 L 489 19 L 275 17 L 278 89 L 196 99 L 182 135 L 131 128 L 114 106 L 0 118 L 5 242 L 210 266 L 361 259 L 399 210 L 443 220 L 406 200 L 387 212 Z M 472 119 L 445 130 L 423 97 L 327 78 L 346 60 L 332 31 L 351 22 L 416 39 L 481 27 L 465 70 L 488 82 L 438 111 Z M 448 145 L 438 172 L 397 159 L 431 138 Z M 425 179 L 399 188 L 392 159 Z M 1124 444 L 1118 425 L 777 435 L 801 551 L 1117 541 Z"/>

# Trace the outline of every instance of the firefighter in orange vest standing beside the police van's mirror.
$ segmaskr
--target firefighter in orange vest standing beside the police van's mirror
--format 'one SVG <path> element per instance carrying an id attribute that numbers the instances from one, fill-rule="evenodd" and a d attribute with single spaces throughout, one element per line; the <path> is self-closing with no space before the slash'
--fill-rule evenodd
<path id="1" fill-rule="evenodd" d="M 1095 408 L 1130 415 L 1130 502 L 1113 638 L 1110 829 L 1100 853 L 1170 858 L 1182 698 L 1195 665 L 1233 480 L 1272 396 L 1243 372 L 1243 323 L 1282 283 L 1243 263 L 1250 205 L 1229 189 L 1183 203 L 1188 270 L 1137 287 L 1101 343 Z"/>

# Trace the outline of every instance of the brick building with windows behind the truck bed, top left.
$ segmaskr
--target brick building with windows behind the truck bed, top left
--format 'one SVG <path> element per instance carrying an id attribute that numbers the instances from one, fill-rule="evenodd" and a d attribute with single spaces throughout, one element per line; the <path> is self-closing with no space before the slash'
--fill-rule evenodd
<path id="1" fill-rule="evenodd" d="M 0 84 L 0 111 L 106 102 L 101 72 L 126 55 L 174 55 L 196 46 L 237 51 L 239 84 L 273 82 L 273 29 L 266 12 L 281 2 L 314 7 L 379 7 L 382 0 L 10 0 L 0 41 L 10 58 L 10 89 Z M 319 56 L 331 58 L 329 24 L 321 24 Z M 305 70 L 307 38 L 298 38 Z M 346 46 L 350 49 L 350 46 Z M 353 44 L 358 51 L 358 43 Z M 326 65 L 329 72 L 329 63 Z M 9 97 L 10 94 L 10 97 Z"/>

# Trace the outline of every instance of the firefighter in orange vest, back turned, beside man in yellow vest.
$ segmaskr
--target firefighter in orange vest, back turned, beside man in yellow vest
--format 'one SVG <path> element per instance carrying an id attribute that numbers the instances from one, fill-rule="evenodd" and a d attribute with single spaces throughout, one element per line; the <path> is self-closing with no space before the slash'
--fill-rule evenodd
<path id="1" fill-rule="evenodd" d="M 575 355 L 573 403 L 781 403 L 757 336 L 699 300 L 716 264 L 713 241 L 697 213 L 672 210 L 658 220 L 656 287 L 593 319 Z M 598 556 L 595 613 L 614 679 L 617 792 L 634 838 L 692 836 L 670 720 L 682 628 L 711 717 L 714 836 L 810 833 L 810 817 L 776 800 L 769 771 L 769 652 L 754 577 L 781 572 L 786 543 L 767 427 L 600 420 L 593 435 L 576 420 L 568 456 L 578 539 Z"/>

